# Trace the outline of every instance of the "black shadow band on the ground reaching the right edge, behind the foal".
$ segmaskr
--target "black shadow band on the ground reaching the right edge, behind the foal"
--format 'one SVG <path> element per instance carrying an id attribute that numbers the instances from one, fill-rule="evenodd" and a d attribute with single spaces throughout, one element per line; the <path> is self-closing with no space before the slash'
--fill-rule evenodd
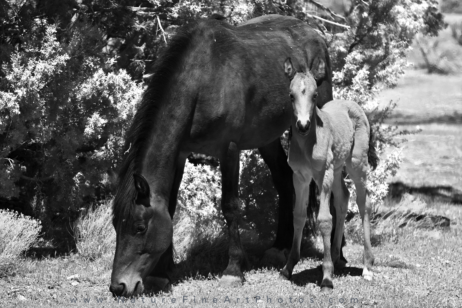
<path id="1" fill-rule="evenodd" d="M 412 187 L 402 182 L 389 184 L 389 197 L 401 198 L 405 193 L 419 194 L 432 202 L 447 202 L 462 204 L 462 192 L 451 186 L 422 186 Z"/>

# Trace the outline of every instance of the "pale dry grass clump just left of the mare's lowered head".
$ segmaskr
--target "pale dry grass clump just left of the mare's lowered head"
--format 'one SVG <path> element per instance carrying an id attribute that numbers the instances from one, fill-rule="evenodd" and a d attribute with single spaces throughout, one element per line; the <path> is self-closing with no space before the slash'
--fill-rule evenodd
<path id="1" fill-rule="evenodd" d="M 83 212 L 74 224 L 77 252 L 85 259 L 112 260 L 116 251 L 116 230 L 112 226 L 112 202 Z"/>

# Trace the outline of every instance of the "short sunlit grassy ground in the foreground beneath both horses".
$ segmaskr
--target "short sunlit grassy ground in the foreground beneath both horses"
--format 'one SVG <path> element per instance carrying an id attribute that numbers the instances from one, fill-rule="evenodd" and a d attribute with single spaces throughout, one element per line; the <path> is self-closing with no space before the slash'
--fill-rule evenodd
<path id="1" fill-rule="evenodd" d="M 16 276 L 0 280 L 0 303 L 5 307 L 459 308 L 462 307 L 462 270 L 459 266 L 462 211 L 454 205 L 440 206 L 438 211 L 451 218 L 449 229 L 423 230 L 409 225 L 397 229 L 393 242 L 373 248 L 376 266 L 372 281 L 361 278 L 362 246 L 348 245 L 345 256 L 349 263 L 344 270 L 335 272 L 335 289 L 328 297 L 320 295 L 321 260 L 314 257 L 304 258 L 296 266 L 292 281 L 279 280 L 277 270 L 255 268 L 245 273 L 247 282 L 242 287 L 233 289 L 218 286 L 215 274 L 219 273 L 209 277 L 196 275 L 195 269 L 201 266 L 199 262 L 191 263 L 188 268 L 191 274 L 177 277 L 171 293 L 138 298 L 134 303 L 117 303 L 108 290 L 111 260 L 90 262 L 72 255 L 26 260 Z M 79 278 L 67 279 L 75 274 L 79 274 Z M 183 296 L 188 296 L 184 303 Z M 231 302 L 224 302 L 226 296 Z M 255 304 L 257 296 L 261 297 L 258 305 Z M 267 296 L 271 302 L 267 302 Z M 201 302 L 204 297 L 207 303 Z M 90 303 L 85 303 L 88 298 Z M 173 298 L 176 298 L 175 303 L 172 303 Z M 218 302 L 213 303 L 213 298 Z M 239 302 L 237 298 L 240 298 Z M 77 302 L 71 299 L 77 299 Z M 102 302 L 97 302 L 98 299 Z M 277 302 L 278 299 L 282 302 Z M 300 299 L 304 302 L 299 302 Z M 151 302 L 154 300 L 156 304 Z"/>

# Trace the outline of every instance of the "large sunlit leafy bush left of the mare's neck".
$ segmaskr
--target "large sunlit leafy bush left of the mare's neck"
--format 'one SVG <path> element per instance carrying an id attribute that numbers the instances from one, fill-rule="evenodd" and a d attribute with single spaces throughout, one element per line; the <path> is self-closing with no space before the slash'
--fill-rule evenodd
<path id="1" fill-rule="evenodd" d="M 46 211 L 72 212 L 117 163 L 143 87 L 106 69 L 95 28 L 76 25 L 58 42 L 56 26 L 41 25 L 41 41 L 16 48 L 2 66 L 0 196 L 25 191 Z"/>

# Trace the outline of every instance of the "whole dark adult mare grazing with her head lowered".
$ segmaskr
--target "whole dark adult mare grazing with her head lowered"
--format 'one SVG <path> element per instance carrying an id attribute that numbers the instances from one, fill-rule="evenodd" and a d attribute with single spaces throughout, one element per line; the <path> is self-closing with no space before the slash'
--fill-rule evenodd
<path id="1" fill-rule="evenodd" d="M 290 126 L 293 109 L 283 63 L 290 56 L 306 67 L 319 66 L 322 105 L 332 100 L 327 48 L 296 18 L 267 15 L 239 27 L 222 19 L 183 26 L 154 65 L 128 134 L 114 200 L 117 242 L 109 289 L 115 296 L 140 294 L 148 274 L 168 281 L 172 217 L 191 152 L 220 162 L 221 206 L 230 239 L 222 285 L 245 281 L 238 231 L 240 150 L 258 148 L 267 163 L 280 198 L 272 249 L 282 254 L 291 247 L 292 170 L 279 138 Z"/>

